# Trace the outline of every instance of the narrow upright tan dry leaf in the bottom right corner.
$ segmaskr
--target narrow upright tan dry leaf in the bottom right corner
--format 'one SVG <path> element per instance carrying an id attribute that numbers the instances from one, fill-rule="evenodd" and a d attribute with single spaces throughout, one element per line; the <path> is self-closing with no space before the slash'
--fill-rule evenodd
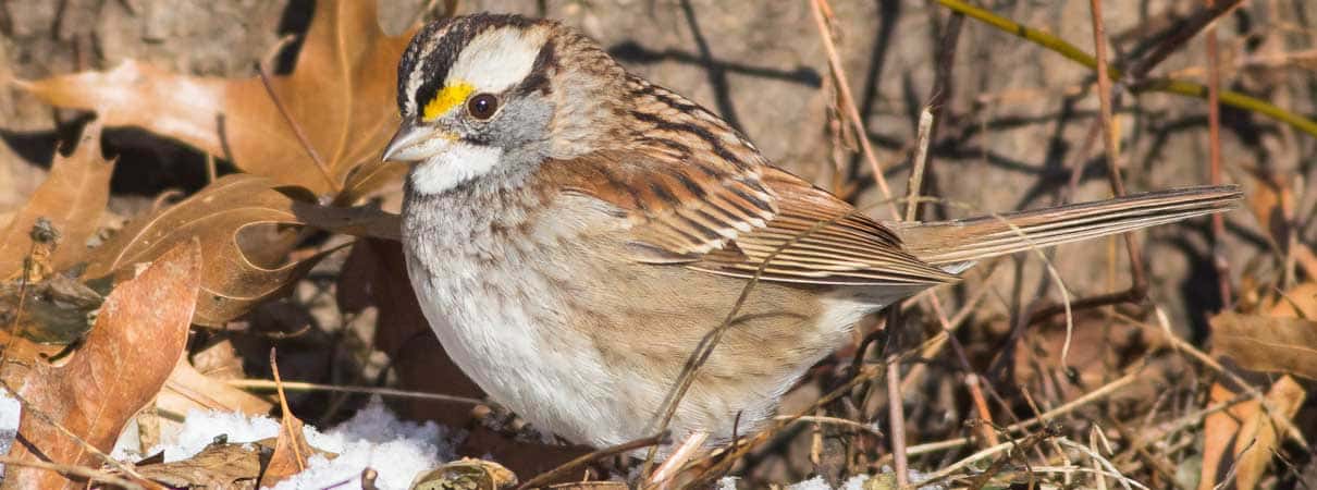
<path id="1" fill-rule="evenodd" d="M 1276 427 L 1293 419 L 1304 402 L 1304 389 L 1293 378 L 1280 377 L 1267 391 L 1267 404 L 1275 411 L 1268 418 L 1262 410 L 1243 419 L 1235 439 L 1235 489 L 1252 490 L 1267 470 L 1276 450 Z"/>

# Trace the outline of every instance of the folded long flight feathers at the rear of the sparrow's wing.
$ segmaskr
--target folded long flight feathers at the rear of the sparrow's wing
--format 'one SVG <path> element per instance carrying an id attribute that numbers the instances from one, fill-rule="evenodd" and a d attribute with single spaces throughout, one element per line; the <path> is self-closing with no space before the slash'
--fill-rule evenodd
<path id="1" fill-rule="evenodd" d="M 955 274 L 907 253 L 892 231 L 827 191 L 774 167 L 765 166 L 763 174 L 764 183 L 777 196 L 777 216 L 689 267 L 749 278 L 769 261 L 760 279 L 807 285 L 959 281 Z"/>

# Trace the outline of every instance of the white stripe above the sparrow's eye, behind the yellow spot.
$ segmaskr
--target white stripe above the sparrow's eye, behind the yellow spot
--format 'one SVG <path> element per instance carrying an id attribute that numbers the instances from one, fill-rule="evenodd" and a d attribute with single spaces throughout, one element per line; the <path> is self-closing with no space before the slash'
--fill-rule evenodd
<path id="1" fill-rule="evenodd" d="M 508 90 L 531 74 L 547 37 L 545 29 L 512 26 L 481 33 L 462 47 L 444 84 L 469 83 L 490 94 Z"/>

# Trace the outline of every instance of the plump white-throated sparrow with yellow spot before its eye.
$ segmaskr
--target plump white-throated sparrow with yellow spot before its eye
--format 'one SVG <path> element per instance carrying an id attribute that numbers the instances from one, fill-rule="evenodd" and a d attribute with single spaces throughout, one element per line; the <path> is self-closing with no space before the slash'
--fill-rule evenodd
<path id="1" fill-rule="evenodd" d="M 402 244 L 427 320 L 490 399 L 568 441 L 765 427 L 865 315 L 989 257 L 1227 211 L 1200 186 L 976 219 L 881 221 L 773 166 L 714 112 L 552 20 L 421 28 L 398 67 Z"/>

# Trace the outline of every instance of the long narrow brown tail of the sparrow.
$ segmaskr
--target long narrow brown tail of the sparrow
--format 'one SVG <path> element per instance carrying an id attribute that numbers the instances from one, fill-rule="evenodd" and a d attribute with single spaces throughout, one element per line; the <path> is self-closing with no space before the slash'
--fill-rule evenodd
<path id="1" fill-rule="evenodd" d="M 960 269 L 957 265 L 1021 250 L 1230 211 L 1241 199 L 1238 186 L 1202 186 L 997 216 L 909 223 L 897 228 L 906 249 L 919 259 Z"/>

